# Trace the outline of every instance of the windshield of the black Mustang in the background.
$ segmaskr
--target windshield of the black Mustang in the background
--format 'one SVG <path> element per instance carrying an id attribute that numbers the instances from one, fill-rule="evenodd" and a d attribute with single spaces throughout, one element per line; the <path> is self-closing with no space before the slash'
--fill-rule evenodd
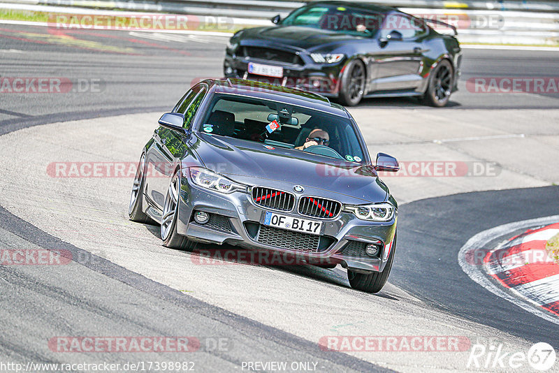
<path id="1" fill-rule="evenodd" d="M 339 5 L 320 4 L 295 10 L 281 22 L 285 26 L 305 26 L 359 36 L 375 34 L 382 15 Z"/>

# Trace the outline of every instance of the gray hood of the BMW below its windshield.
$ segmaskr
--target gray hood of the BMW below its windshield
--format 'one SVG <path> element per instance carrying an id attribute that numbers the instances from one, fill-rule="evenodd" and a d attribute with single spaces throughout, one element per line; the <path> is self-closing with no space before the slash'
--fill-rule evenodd
<path id="1" fill-rule="evenodd" d="M 232 180 L 254 184 L 255 178 L 300 184 L 368 202 L 386 200 L 387 188 L 370 166 L 341 159 L 221 136 L 195 133 L 193 146 L 205 166 Z M 261 181 L 266 185 L 265 181 Z M 291 188 L 290 188 L 291 189 Z"/>

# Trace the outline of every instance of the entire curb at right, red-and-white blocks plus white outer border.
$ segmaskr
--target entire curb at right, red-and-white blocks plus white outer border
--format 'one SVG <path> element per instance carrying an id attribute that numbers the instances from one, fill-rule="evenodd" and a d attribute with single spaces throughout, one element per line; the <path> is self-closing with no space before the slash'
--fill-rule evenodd
<path id="1" fill-rule="evenodd" d="M 559 314 L 559 265 L 551 263 L 544 252 L 546 241 L 559 233 L 558 221 L 559 215 L 555 215 L 516 221 L 477 233 L 458 251 L 458 263 L 466 275 L 491 293 L 559 324 L 556 316 Z M 472 252 L 483 249 L 488 242 L 535 226 L 544 227 L 513 237 L 484 254 L 482 263 L 472 263 Z M 496 284 L 492 277 L 504 286 Z"/>

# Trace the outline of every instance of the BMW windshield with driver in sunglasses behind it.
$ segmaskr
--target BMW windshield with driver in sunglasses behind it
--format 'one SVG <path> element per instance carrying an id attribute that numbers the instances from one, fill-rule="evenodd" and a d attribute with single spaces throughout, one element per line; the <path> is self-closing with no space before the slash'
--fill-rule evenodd
<path id="1" fill-rule="evenodd" d="M 365 159 L 349 119 L 260 98 L 216 94 L 199 131 L 346 161 Z"/>

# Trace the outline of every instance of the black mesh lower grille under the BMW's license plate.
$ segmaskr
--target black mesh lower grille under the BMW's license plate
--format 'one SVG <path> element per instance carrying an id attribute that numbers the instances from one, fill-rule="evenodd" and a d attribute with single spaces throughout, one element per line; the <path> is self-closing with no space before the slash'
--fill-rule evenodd
<path id="1" fill-rule="evenodd" d="M 326 251 L 335 241 L 331 237 L 310 235 L 284 229 L 260 225 L 256 241 L 273 247 L 305 253 Z"/>

